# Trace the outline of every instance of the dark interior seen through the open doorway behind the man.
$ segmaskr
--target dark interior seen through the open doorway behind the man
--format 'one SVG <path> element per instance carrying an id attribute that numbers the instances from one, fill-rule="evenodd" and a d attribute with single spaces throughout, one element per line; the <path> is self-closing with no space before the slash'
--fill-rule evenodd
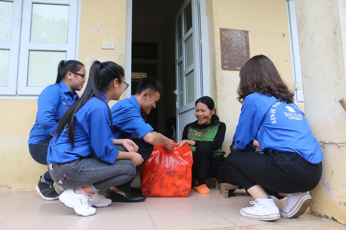
<path id="1" fill-rule="evenodd" d="M 163 95 L 146 121 L 155 131 L 165 134 L 165 127 L 176 114 L 175 86 L 175 14 L 184 0 L 133 0 L 132 1 L 132 43 L 136 49 L 132 57 L 132 72 L 147 73 L 148 77 L 159 80 Z M 147 44 L 146 47 L 143 44 Z M 149 45 L 152 44 L 152 45 Z M 157 56 L 153 54 L 156 44 Z M 141 51 L 141 52 L 139 52 Z M 131 82 L 131 93 L 137 88 Z M 171 136 L 169 136 L 171 138 Z"/>

